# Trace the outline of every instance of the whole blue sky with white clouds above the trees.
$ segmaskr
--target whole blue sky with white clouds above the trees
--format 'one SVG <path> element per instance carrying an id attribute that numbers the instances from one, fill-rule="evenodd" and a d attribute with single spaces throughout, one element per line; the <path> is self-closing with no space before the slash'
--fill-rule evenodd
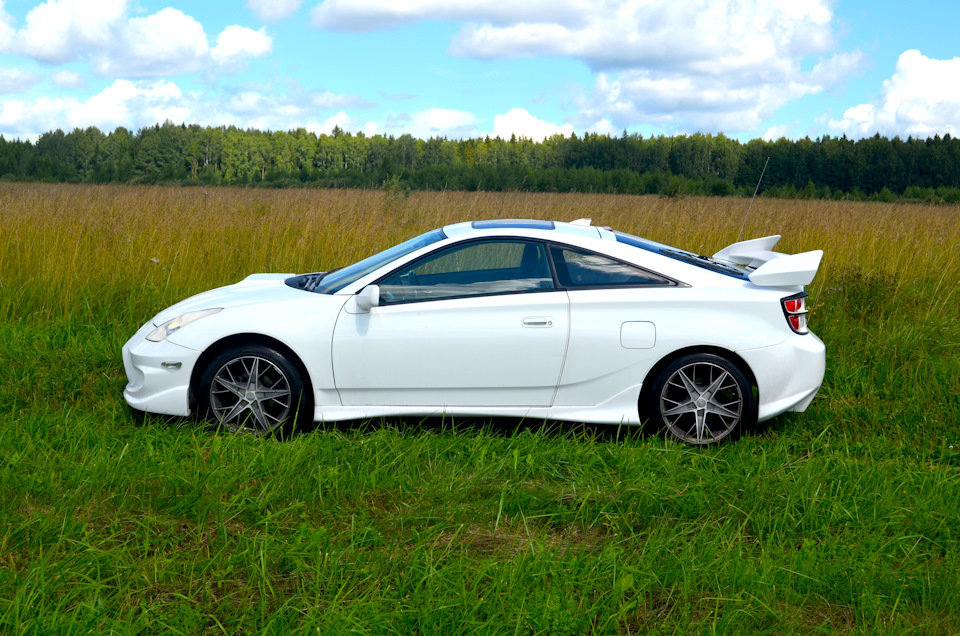
<path id="1" fill-rule="evenodd" d="M 958 134 L 960 3 L 0 0 L 0 133 Z"/>

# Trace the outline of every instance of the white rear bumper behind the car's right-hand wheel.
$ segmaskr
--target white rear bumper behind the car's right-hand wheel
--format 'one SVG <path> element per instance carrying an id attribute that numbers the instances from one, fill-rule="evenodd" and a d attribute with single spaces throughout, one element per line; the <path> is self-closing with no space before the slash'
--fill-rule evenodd
<path id="1" fill-rule="evenodd" d="M 813 401 L 826 369 L 826 347 L 814 333 L 792 335 L 772 347 L 737 351 L 757 380 L 757 420 L 803 411 Z"/>

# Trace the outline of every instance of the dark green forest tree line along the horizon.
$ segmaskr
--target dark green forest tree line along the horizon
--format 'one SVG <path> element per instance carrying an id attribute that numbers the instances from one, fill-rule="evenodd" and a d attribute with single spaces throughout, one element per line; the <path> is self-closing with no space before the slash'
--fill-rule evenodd
<path id="1" fill-rule="evenodd" d="M 0 136 L 0 179 L 960 201 L 960 141 L 879 134 L 742 143 L 723 134 L 417 139 L 202 127 Z"/>

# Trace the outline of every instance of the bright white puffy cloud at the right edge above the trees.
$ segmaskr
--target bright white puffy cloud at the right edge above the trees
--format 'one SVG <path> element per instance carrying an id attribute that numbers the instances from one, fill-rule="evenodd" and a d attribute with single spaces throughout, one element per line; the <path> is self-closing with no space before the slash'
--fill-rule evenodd
<path id="1" fill-rule="evenodd" d="M 936 60 L 905 51 L 874 103 L 848 108 L 828 125 L 853 137 L 960 134 L 960 58 Z"/>

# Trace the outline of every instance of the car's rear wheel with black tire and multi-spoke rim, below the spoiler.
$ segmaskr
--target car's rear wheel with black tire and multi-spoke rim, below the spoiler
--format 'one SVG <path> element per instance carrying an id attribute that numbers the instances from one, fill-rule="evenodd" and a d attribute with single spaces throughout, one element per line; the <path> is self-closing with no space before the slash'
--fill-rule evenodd
<path id="1" fill-rule="evenodd" d="M 667 365 L 645 406 L 649 422 L 662 435 L 695 446 L 736 439 L 757 419 L 750 381 L 735 364 L 709 353 Z"/>

